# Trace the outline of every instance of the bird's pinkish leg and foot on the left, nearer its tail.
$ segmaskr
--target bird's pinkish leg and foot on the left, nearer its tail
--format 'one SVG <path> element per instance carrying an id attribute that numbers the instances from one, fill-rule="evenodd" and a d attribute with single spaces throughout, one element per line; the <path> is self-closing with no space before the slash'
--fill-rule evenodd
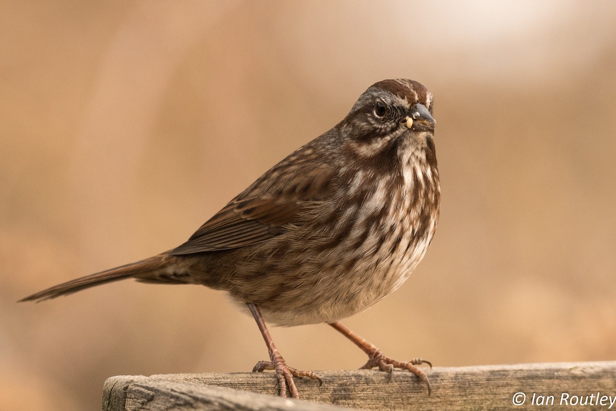
<path id="1" fill-rule="evenodd" d="M 274 345 L 274 340 L 269 334 L 267 327 L 265 326 L 265 321 L 261 316 L 261 310 L 259 306 L 254 303 L 248 303 L 248 308 L 250 312 L 253 313 L 254 321 L 257 322 L 259 326 L 259 330 L 261 330 L 261 335 L 263 335 L 263 339 L 265 340 L 265 344 L 267 344 L 267 350 L 270 354 L 270 361 L 259 361 L 253 368 L 253 372 L 261 372 L 263 370 L 275 370 L 276 375 L 278 377 L 278 392 L 281 397 L 286 397 L 286 388 L 288 386 L 289 392 L 293 398 L 298 398 L 298 389 L 295 386 L 293 381 L 293 377 L 309 377 L 313 380 L 318 381 L 318 386 L 323 384 L 323 380 L 318 377 L 312 371 L 299 371 L 294 368 L 286 365 L 285 359 L 283 359 L 280 352 Z"/>

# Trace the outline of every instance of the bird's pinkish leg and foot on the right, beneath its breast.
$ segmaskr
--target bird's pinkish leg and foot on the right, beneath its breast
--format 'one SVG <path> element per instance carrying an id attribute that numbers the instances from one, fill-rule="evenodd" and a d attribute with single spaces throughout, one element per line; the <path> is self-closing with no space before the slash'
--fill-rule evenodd
<path id="1" fill-rule="evenodd" d="M 419 378 L 419 380 L 423 381 L 426 386 L 428 386 L 428 395 L 430 395 L 431 388 L 430 381 L 428 380 L 428 375 L 426 375 L 423 370 L 419 369 L 418 367 L 415 367 L 415 365 L 428 364 L 430 365 L 430 368 L 432 368 L 432 364 L 429 361 L 423 360 L 421 358 L 413 358 L 411 359 L 411 361 L 395 361 L 394 359 L 387 357 L 385 354 L 383 354 L 383 351 L 378 349 L 375 345 L 369 343 L 364 338 L 352 332 L 340 322 L 335 321 L 328 324 L 334 327 L 334 329 L 341 332 L 344 337 L 349 338 L 349 340 L 353 341 L 355 345 L 357 345 L 363 350 L 364 353 L 368 354 L 368 362 L 360 369 L 371 369 L 374 367 L 378 367 L 379 370 L 389 373 L 389 378 L 391 378 L 392 371 L 394 370 L 394 368 L 408 370 L 415 374 Z"/>

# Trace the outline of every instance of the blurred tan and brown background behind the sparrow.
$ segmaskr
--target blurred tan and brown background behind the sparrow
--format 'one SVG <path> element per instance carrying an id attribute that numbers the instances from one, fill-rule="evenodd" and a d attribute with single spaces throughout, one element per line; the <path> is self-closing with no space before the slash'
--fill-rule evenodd
<path id="1" fill-rule="evenodd" d="M 441 219 L 346 324 L 435 365 L 615 359 L 615 24 L 613 1 L 3 1 L 0 409 L 265 359 L 205 287 L 15 301 L 184 242 L 386 78 L 436 96 Z M 299 369 L 365 362 L 326 325 L 272 335 Z"/>

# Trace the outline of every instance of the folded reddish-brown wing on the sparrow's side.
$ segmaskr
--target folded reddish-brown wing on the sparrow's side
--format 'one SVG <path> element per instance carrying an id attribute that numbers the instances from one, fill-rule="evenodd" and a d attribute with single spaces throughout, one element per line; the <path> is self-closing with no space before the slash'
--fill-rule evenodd
<path id="1" fill-rule="evenodd" d="M 325 164 L 302 175 L 264 176 L 170 253 L 236 249 L 277 236 L 286 226 L 305 221 L 306 213 L 314 213 L 315 207 L 331 201 L 333 178 L 331 167 Z"/>

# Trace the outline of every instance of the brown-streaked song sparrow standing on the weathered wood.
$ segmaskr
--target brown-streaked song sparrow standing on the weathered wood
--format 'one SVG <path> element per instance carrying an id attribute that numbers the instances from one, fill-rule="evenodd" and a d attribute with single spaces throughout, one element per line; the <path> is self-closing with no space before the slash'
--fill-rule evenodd
<path id="1" fill-rule="evenodd" d="M 368 354 L 362 368 L 428 377 L 338 322 L 397 289 L 423 258 L 439 218 L 432 94 L 407 79 L 377 82 L 339 124 L 291 153 L 210 218 L 187 242 L 136 263 L 30 295 L 47 300 L 128 277 L 226 290 L 248 307 L 269 349 L 279 392 L 293 376 L 267 331 L 326 322 Z"/>

